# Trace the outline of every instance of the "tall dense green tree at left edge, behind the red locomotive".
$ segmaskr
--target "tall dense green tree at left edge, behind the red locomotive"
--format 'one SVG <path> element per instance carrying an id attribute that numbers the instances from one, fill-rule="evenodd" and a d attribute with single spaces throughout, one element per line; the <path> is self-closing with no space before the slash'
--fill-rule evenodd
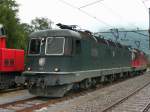
<path id="1" fill-rule="evenodd" d="M 27 32 L 24 31 L 17 12 L 18 4 L 15 0 L 0 0 L 0 23 L 6 29 L 7 46 L 25 49 Z"/>

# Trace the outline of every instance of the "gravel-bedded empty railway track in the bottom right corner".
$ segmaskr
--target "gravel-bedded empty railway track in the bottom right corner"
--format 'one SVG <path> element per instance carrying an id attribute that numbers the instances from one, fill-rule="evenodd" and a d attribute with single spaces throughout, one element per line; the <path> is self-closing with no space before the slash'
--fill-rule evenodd
<path id="1" fill-rule="evenodd" d="M 150 109 L 150 82 L 123 97 L 102 112 L 148 112 Z"/>

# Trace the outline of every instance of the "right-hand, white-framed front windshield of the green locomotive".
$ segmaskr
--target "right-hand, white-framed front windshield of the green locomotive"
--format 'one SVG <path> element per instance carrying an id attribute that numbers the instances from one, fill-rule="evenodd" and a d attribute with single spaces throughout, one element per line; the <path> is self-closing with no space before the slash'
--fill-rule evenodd
<path id="1" fill-rule="evenodd" d="M 47 55 L 63 55 L 64 54 L 64 37 L 48 37 L 46 40 Z"/>

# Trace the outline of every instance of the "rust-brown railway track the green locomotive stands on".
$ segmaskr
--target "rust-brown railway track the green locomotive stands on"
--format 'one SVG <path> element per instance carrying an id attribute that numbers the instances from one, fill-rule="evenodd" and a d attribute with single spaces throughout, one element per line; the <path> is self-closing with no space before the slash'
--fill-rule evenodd
<path id="1" fill-rule="evenodd" d="M 7 111 L 13 110 L 15 112 L 33 112 L 34 110 L 41 109 L 43 107 L 48 107 L 52 104 L 56 104 L 56 103 L 66 101 L 69 99 L 73 99 L 75 97 L 82 96 L 82 95 L 85 95 L 87 93 L 93 92 L 97 89 L 112 86 L 112 85 L 117 84 L 119 82 L 122 82 L 122 81 L 116 81 L 113 84 L 111 83 L 111 84 L 107 84 L 106 86 L 99 86 L 99 87 L 94 88 L 94 89 L 83 90 L 83 91 L 79 91 L 79 92 L 75 92 L 75 93 L 72 92 L 63 98 L 53 98 L 53 99 L 50 98 L 50 99 L 48 99 L 48 98 L 42 98 L 42 97 L 32 97 L 32 98 L 28 98 L 28 99 L 24 99 L 24 100 L 18 100 L 18 101 L 14 101 L 14 102 L 10 102 L 10 103 L 1 104 L 0 105 L 0 112 L 6 111 L 6 110 Z M 150 82 L 146 85 L 149 85 L 149 84 L 150 84 Z M 144 88 L 146 85 L 144 85 L 142 88 Z M 139 88 L 138 91 L 140 91 L 142 88 Z"/>

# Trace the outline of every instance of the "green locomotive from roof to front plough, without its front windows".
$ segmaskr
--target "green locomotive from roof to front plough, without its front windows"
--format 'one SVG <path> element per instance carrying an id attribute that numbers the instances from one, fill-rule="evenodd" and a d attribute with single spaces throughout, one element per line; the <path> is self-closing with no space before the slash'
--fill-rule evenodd
<path id="1" fill-rule="evenodd" d="M 47 37 L 65 38 L 63 55 L 45 55 L 44 42 Z M 41 45 L 39 55 L 27 55 L 23 75 L 29 79 L 31 94 L 61 97 L 75 82 L 132 71 L 131 52 L 126 46 L 66 29 L 34 32 L 30 35 L 30 39 L 33 38 L 43 40 L 44 44 Z M 39 64 L 40 59 L 45 59 L 42 66 Z M 56 72 L 55 68 L 59 71 Z"/>

